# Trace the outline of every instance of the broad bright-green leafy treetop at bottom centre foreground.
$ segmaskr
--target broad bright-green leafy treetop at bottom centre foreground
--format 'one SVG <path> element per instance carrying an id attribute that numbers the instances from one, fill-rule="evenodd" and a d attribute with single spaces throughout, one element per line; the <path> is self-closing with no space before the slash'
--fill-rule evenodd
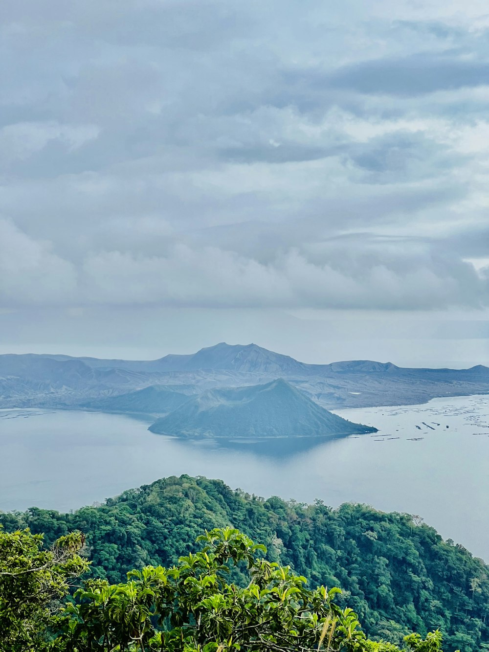
<path id="1" fill-rule="evenodd" d="M 334 598 L 340 589 L 306 588 L 306 579 L 267 561 L 264 546 L 236 529 L 213 529 L 203 548 L 169 569 L 145 567 L 128 582 L 89 580 L 65 609 L 67 652 L 398 652 L 367 640 L 353 610 Z M 248 584 L 226 582 L 246 567 Z M 409 649 L 434 652 L 441 634 L 406 639 Z"/>

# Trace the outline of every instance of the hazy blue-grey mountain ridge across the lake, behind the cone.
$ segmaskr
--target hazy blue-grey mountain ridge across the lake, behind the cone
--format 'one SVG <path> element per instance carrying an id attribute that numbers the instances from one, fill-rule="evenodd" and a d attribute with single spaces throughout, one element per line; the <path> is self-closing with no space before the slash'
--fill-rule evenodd
<path id="1" fill-rule="evenodd" d="M 373 361 L 305 364 L 256 344 L 221 343 L 152 361 L 0 355 L 0 408 L 89 408 L 161 416 L 178 408 L 185 396 L 277 378 L 327 409 L 489 393 L 489 368 L 481 365 L 452 370 Z"/>

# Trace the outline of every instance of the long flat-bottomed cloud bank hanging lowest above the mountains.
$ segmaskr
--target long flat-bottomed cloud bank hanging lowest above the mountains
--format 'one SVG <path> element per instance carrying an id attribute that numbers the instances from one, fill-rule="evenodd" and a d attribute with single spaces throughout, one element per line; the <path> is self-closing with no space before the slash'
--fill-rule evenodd
<path id="1" fill-rule="evenodd" d="M 74 265 L 0 222 L 0 299 L 37 305 L 432 310 L 487 304 L 487 279 L 423 242 L 344 238 L 268 262 L 168 243 L 159 255 L 100 251 Z M 428 255 L 426 252 L 428 250 Z"/>

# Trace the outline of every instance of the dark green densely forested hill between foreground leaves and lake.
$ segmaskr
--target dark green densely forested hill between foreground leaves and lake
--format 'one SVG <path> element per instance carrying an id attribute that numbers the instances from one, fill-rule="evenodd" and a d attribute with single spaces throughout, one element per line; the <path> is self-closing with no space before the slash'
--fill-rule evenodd
<path id="1" fill-rule="evenodd" d="M 265 500 L 183 475 L 72 514 L 30 509 L 0 514 L 0 523 L 10 531 L 43 532 L 48 543 L 80 529 L 92 574 L 111 582 L 132 568 L 168 565 L 193 550 L 204 529 L 232 525 L 312 584 L 341 587 L 344 606 L 359 614 L 371 636 L 394 642 L 411 630 L 439 627 L 447 652 L 489 649 L 489 567 L 408 514 Z"/>

